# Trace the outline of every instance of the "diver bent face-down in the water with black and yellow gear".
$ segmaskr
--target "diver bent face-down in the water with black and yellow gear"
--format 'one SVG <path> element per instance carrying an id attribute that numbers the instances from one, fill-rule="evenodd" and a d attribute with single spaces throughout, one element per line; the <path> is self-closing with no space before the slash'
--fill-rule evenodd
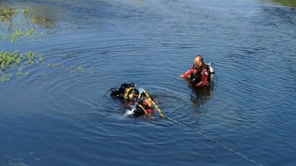
<path id="1" fill-rule="evenodd" d="M 120 88 L 114 87 L 109 90 L 111 90 L 112 97 L 117 97 L 126 104 L 125 115 L 139 117 L 145 114 L 152 114 L 152 97 L 142 88 L 135 89 L 135 86 L 136 84 L 134 83 L 124 83 L 121 84 Z"/>

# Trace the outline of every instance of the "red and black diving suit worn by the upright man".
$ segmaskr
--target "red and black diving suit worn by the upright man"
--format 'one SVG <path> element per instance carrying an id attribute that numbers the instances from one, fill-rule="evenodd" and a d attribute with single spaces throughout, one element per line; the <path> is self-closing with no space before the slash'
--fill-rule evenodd
<path id="1" fill-rule="evenodd" d="M 210 82 L 209 73 L 208 73 L 208 65 L 204 63 L 196 68 L 193 66 L 187 72 L 183 73 L 183 77 L 191 76 L 191 83 L 193 86 L 205 86 Z"/>

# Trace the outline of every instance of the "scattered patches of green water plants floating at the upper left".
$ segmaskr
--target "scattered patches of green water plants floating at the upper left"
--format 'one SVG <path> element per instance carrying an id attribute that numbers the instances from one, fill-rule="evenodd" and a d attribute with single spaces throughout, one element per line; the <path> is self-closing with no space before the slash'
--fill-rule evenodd
<path id="1" fill-rule="evenodd" d="M 18 42 L 21 38 L 41 39 L 40 36 L 44 34 L 36 31 L 40 30 L 37 26 L 43 26 L 43 28 L 53 27 L 54 20 L 32 15 L 27 9 L 0 8 L 0 45 L 6 41 L 10 41 L 12 44 Z M 59 31 L 55 30 L 51 34 L 57 32 Z M 43 39 L 43 41 L 46 40 Z M 68 55 L 60 55 L 60 57 L 67 58 Z M 42 65 L 45 58 L 47 57 L 43 53 L 33 51 L 19 53 L 19 51 L 6 52 L 2 50 L 0 52 L 0 80 L 2 82 L 10 81 L 13 75 L 16 77 L 27 76 L 30 73 L 25 71 L 26 68 L 37 64 Z M 62 68 L 70 73 L 75 71 L 84 73 L 85 70 L 82 66 L 71 66 L 70 69 L 67 69 L 63 64 L 59 63 L 48 63 L 47 68 Z M 88 73 L 93 73 L 93 68 L 88 69 Z M 46 76 L 47 73 L 43 72 L 41 75 Z"/>

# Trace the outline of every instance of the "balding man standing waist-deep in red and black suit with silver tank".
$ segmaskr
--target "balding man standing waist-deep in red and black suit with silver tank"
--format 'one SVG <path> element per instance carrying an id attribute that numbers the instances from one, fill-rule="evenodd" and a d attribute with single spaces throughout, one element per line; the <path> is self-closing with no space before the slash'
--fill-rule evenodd
<path id="1" fill-rule="evenodd" d="M 193 86 L 200 87 L 210 85 L 214 79 L 214 73 L 212 63 L 204 63 L 204 58 L 197 55 L 194 58 L 193 67 L 179 77 L 189 77 Z"/>

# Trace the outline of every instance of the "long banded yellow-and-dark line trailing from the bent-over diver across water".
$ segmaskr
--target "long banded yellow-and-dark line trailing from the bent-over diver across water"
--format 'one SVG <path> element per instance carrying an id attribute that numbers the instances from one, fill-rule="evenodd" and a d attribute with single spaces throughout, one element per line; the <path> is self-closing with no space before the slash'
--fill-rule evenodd
<path id="1" fill-rule="evenodd" d="M 202 132 L 198 132 L 198 131 L 195 131 L 195 129 L 193 129 L 193 128 L 191 128 L 191 127 L 188 127 L 188 126 L 186 126 L 185 124 L 182 124 L 182 123 L 180 123 L 179 121 L 176 121 L 175 119 L 171 119 L 171 118 L 168 118 L 168 117 L 164 116 L 164 115 L 162 114 L 161 110 L 159 109 L 159 107 L 155 104 L 155 102 L 152 100 L 152 98 L 148 95 L 148 93 L 146 92 L 146 90 L 143 89 L 143 88 L 142 88 L 142 90 L 143 90 L 143 92 L 145 93 L 146 97 L 150 98 L 150 100 L 152 101 L 152 104 L 153 104 L 154 107 L 158 110 L 160 117 L 162 117 L 162 118 L 164 118 L 164 119 L 167 119 L 167 120 L 169 120 L 169 121 L 172 121 L 172 122 L 174 122 L 174 123 L 176 123 L 176 124 L 178 124 L 178 125 L 180 125 L 180 126 L 182 126 L 182 127 L 184 127 L 184 128 L 187 128 L 188 130 L 191 130 L 192 132 L 195 132 L 195 133 L 197 133 L 197 134 L 199 134 L 199 135 L 201 135 L 201 136 L 203 136 L 203 137 L 205 137 L 205 138 L 207 138 L 207 139 L 209 139 L 209 140 L 211 140 L 211 141 L 217 143 L 218 145 L 222 146 L 223 148 L 229 150 L 230 152 L 236 153 L 237 155 L 239 155 L 239 156 L 245 158 L 246 160 L 249 160 L 249 161 L 252 162 L 252 163 L 255 163 L 255 164 L 257 164 L 257 165 L 263 166 L 262 164 L 258 163 L 257 161 L 254 161 L 254 160 L 250 159 L 249 157 L 247 157 L 247 156 L 245 156 L 245 155 L 243 155 L 243 154 L 241 154 L 241 153 L 239 153 L 239 152 L 236 152 L 235 150 L 232 150 L 231 148 L 228 148 L 228 147 L 225 146 L 224 144 L 221 144 L 221 143 L 218 142 L 217 140 L 214 140 L 213 138 L 211 138 L 211 137 L 205 135 L 204 133 L 202 133 Z"/>

